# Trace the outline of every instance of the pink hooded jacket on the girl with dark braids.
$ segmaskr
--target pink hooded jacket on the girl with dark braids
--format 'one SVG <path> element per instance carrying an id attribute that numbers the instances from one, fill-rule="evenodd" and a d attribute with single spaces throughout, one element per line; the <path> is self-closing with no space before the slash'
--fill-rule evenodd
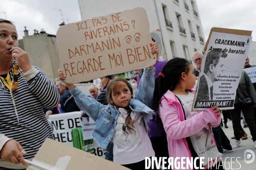
<path id="1" fill-rule="evenodd" d="M 190 90 L 195 93 L 194 90 Z M 217 127 L 221 123 L 221 115 L 216 116 L 211 108 L 198 113 L 192 118 L 184 121 L 184 114 L 177 97 L 167 91 L 165 97 L 161 98 L 162 106 L 159 106 L 159 115 L 166 131 L 169 156 L 191 157 L 186 137 L 202 130 L 209 122 L 212 127 Z M 215 143 L 216 144 L 216 143 Z"/>

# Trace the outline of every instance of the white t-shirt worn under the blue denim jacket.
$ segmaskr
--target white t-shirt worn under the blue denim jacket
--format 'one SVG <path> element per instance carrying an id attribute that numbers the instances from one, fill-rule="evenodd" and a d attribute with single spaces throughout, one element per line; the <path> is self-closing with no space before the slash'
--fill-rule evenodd
<path id="1" fill-rule="evenodd" d="M 116 129 L 113 134 L 113 162 L 117 164 L 132 164 L 143 161 L 145 157 L 153 156 L 154 150 L 146 132 L 141 113 L 131 113 L 134 127 L 130 125 L 131 132 L 128 131 L 125 118 L 127 111 L 119 108 L 120 114 L 117 118 Z"/>

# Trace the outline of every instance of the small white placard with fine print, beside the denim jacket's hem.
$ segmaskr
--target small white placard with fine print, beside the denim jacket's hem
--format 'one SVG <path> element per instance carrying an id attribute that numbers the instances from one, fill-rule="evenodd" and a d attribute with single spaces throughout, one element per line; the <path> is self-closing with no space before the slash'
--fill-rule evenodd
<path id="1" fill-rule="evenodd" d="M 92 133 L 95 125 L 96 125 L 96 122 L 94 122 L 93 119 L 89 119 L 88 121 L 87 118 L 83 117 L 82 128 L 83 128 L 84 140 L 93 139 Z"/>

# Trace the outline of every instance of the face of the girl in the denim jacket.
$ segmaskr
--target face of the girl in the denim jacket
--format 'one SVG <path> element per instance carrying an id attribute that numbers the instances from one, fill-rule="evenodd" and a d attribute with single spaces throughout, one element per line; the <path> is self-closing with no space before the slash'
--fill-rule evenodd
<path id="1" fill-rule="evenodd" d="M 131 91 L 125 82 L 119 82 L 116 85 L 116 89 L 113 90 L 112 99 L 113 102 L 118 106 L 125 108 L 129 105 L 131 100 Z"/>

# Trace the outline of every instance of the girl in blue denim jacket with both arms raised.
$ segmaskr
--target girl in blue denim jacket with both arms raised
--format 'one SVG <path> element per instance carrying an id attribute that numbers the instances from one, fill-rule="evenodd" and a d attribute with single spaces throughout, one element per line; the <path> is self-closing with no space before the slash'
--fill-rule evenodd
<path id="1" fill-rule="evenodd" d="M 73 83 L 67 84 L 79 108 L 96 122 L 92 135 L 99 147 L 106 148 L 112 139 L 113 161 L 132 170 L 145 169 L 145 157 L 155 154 L 146 123 L 153 113 L 147 105 L 151 105 L 153 98 L 154 70 L 153 66 L 145 68 L 135 97 L 127 80 L 111 80 L 106 91 L 108 105 L 88 98 Z M 61 70 L 58 74 L 64 81 Z"/>

